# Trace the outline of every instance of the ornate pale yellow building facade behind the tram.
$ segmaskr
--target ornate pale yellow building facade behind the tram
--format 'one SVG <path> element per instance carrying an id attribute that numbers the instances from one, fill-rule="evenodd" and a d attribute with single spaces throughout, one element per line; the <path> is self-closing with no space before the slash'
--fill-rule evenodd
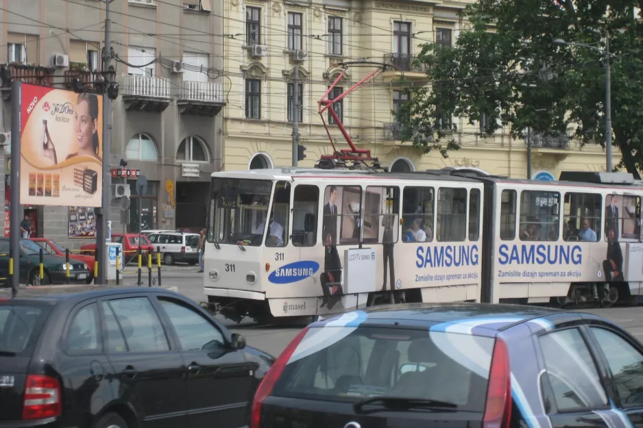
<path id="1" fill-rule="evenodd" d="M 290 166 L 295 60 L 300 81 L 300 144 L 313 166 L 332 146 L 318 111 L 319 99 L 335 79 L 331 67 L 339 62 L 366 60 L 394 64 L 409 84 L 426 83 L 413 58 L 420 45 L 452 45 L 467 25 L 458 16 L 466 1 L 322 0 L 315 2 L 224 0 L 223 61 L 226 95 L 223 126 L 223 168 Z M 298 53 L 303 51 L 304 54 Z M 372 68 L 348 68 L 337 86 L 348 89 Z M 329 75 L 330 71 L 330 75 Z M 508 129 L 487 137 L 480 124 L 457 121 L 454 136 L 461 149 L 443 158 L 437 151 L 422 154 L 398 140 L 392 110 L 404 101 L 394 84 L 401 73 L 386 71 L 372 84 L 348 95 L 336 110 L 359 149 L 369 149 L 393 171 L 424 171 L 445 166 L 480 168 L 496 175 L 524 178 L 527 151 L 523 140 L 513 140 Z M 337 91 L 340 91 L 338 89 Z M 339 93 L 339 92 L 337 92 Z M 328 122 L 328 114 L 324 115 Z M 447 119 L 448 120 L 448 119 Z M 346 149 L 337 126 L 330 126 L 337 149 Z M 534 136 L 533 173 L 547 171 L 605 171 L 605 149 L 567 138 Z M 616 149 L 616 148 L 615 148 Z M 614 151 L 614 164 L 620 162 Z"/>

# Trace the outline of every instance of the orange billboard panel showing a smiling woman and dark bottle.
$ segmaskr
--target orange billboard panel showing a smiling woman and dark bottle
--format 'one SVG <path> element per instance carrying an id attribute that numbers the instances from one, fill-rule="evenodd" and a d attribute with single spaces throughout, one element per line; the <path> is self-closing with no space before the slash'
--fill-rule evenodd
<path id="1" fill-rule="evenodd" d="M 101 206 L 102 98 L 22 84 L 21 204 Z"/>

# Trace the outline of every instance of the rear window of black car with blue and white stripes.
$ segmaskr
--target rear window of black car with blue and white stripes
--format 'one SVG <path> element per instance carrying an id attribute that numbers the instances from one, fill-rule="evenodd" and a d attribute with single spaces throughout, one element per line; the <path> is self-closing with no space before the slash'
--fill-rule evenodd
<path id="1" fill-rule="evenodd" d="M 276 396 L 359 401 L 376 396 L 448 401 L 484 412 L 494 339 L 384 327 L 308 330 Z"/>

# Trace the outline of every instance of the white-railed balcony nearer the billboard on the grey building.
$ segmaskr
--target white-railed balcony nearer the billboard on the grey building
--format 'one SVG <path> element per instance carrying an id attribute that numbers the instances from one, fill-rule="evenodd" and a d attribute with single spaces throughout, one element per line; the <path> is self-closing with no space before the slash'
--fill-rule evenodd
<path id="1" fill-rule="evenodd" d="M 154 76 L 124 76 L 121 94 L 127 110 L 162 112 L 170 103 L 169 79 Z"/>

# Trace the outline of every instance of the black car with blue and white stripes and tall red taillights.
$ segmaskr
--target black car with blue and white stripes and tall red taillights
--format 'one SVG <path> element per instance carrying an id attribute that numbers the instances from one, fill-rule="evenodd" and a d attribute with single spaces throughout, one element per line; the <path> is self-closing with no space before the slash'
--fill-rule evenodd
<path id="1" fill-rule="evenodd" d="M 259 386 L 250 428 L 638 427 L 642 367 L 640 342 L 595 314 L 372 307 L 301 331 Z"/>

